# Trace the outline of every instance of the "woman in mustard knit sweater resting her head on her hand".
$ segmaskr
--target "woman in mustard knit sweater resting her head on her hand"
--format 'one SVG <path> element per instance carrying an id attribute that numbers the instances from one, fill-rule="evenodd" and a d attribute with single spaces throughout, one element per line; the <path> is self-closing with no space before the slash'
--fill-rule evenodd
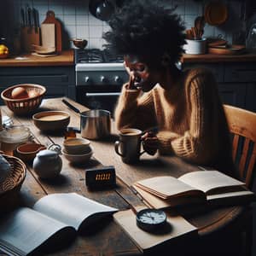
<path id="1" fill-rule="evenodd" d="M 179 16 L 154 1 L 131 1 L 109 20 L 108 49 L 125 56 L 130 80 L 115 110 L 118 129 L 147 130 L 148 154 L 176 154 L 197 165 L 231 174 L 230 138 L 212 73 L 180 71 L 184 26 Z"/>

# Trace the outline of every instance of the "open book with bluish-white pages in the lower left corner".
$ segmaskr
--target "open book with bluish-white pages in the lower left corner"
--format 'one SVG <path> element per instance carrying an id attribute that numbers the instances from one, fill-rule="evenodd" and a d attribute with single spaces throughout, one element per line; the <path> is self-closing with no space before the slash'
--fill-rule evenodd
<path id="1" fill-rule="evenodd" d="M 0 250 L 27 255 L 49 239 L 73 236 L 118 209 L 76 193 L 46 195 L 34 207 L 21 207 L 0 219 Z"/>

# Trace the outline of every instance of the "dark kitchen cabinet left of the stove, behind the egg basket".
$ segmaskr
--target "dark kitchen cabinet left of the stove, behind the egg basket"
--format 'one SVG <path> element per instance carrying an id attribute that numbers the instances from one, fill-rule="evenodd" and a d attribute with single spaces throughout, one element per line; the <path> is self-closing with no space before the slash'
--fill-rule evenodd
<path id="1" fill-rule="evenodd" d="M 68 96 L 75 99 L 76 97 L 74 66 L 1 67 L 0 90 L 3 91 L 14 84 L 42 84 L 47 90 L 46 98 Z"/>

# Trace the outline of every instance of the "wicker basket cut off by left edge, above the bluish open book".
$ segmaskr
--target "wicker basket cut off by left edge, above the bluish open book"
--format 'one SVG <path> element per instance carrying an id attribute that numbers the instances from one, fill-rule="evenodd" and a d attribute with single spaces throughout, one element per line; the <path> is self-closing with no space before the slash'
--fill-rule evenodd
<path id="1" fill-rule="evenodd" d="M 18 192 L 26 177 L 26 165 L 15 156 L 3 154 L 9 162 L 11 172 L 3 183 L 0 184 L 0 212 L 14 207 Z"/>

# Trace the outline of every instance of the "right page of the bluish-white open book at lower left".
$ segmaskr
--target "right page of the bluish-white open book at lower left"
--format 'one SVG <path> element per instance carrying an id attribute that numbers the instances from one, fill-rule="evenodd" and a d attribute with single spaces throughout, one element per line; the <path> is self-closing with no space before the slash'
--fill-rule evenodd
<path id="1" fill-rule="evenodd" d="M 118 211 L 76 193 L 46 195 L 35 203 L 33 209 L 76 230 L 79 230 L 80 225 L 91 224 L 103 215 Z"/>

